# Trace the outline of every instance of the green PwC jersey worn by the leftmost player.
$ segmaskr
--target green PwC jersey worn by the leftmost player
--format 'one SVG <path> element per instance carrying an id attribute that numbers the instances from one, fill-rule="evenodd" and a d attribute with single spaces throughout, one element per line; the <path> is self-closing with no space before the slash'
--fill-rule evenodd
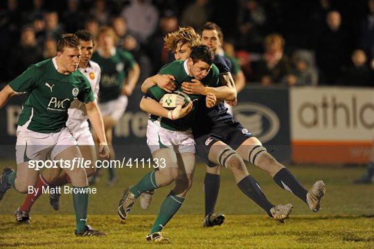
<path id="1" fill-rule="evenodd" d="M 66 126 L 70 103 L 94 101 L 87 78 L 80 72 L 60 74 L 53 59 L 31 65 L 9 83 L 15 92 L 27 92 L 17 124 L 42 133 L 60 132 Z"/>

